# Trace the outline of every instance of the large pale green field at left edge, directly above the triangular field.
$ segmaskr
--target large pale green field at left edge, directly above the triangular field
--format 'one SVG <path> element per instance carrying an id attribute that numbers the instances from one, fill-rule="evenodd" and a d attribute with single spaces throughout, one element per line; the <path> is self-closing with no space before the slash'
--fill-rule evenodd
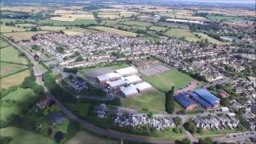
<path id="1" fill-rule="evenodd" d="M 5 62 L 16 62 L 21 64 L 27 64 L 27 60 L 24 57 L 19 56 L 19 51 L 16 50 L 13 46 L 7 46 L 0 50 L 1 52 L 1 61 Z"/>

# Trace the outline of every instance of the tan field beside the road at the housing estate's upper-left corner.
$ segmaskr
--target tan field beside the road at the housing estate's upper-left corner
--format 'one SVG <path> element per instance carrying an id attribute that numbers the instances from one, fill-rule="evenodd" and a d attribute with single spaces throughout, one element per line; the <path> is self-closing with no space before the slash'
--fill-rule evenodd
<path id="1" fill-rule="evenodd" d="M 3 34 L 8 38 L 14 38 L 15 42 L 21 41 L 22 39 L 31 39 L 36 34 L 46 34 L 49 31 L 24 31 L 24 32 L 16 32 L 16 33 L 6 33 Z"/>

